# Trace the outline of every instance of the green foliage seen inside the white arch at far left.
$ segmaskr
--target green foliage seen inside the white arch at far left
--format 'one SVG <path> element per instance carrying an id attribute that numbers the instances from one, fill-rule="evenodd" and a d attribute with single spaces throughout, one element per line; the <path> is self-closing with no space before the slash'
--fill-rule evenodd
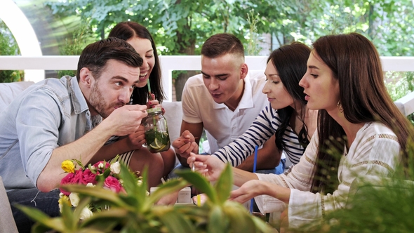
<path id="1" fill-rule="evenodd" d="M 0 20 L 0 55 L 19 55 L 19 47 L 13 35 Z M 0 83 L 10 83 L 13 81 L 22 81 L 24 72 L 22 70 L 1 70 Z"/>

